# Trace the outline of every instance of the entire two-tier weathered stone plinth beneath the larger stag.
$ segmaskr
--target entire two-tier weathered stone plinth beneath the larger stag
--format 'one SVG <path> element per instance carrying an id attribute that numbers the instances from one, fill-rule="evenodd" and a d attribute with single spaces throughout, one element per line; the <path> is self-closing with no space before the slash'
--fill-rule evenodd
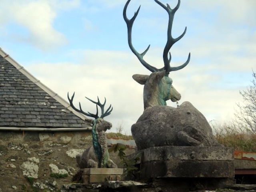
<path id="1" fill-rule="evenodd" d="M 234 152 L 226 147 L 164 146 L 142 150 L 142 178 L 233 178 Z"/>

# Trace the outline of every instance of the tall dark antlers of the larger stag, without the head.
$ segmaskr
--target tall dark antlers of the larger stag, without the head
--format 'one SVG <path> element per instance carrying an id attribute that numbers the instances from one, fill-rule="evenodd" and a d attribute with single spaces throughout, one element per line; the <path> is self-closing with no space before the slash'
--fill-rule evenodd
<path id="1" fill-rule="evenodd" d="M 139 11 L 140 11 L 140 7 L 138 8 L 138 10 L 134 13 L 134 16 L 129 20 L 126 16 L 126 10 L 128 7 L 128 4 L 130 3 L 131 0 L 128 0 L 124 6 L 124 11 L 123 11 L 123 17 L 124 20 L 127 24 L 127 30 L 128 30 L 128 44 L 130 49 L 132 50 L 132 52 L 138 57 L 138 59 L 140 60 L 140 62 L 142 63 L 142 65 L 144 65 L 144 67 L 146 67 L 148 70 L 150 70 L 151 72 L 156 72 L 156 71 L 163 71 L 165 70 L 166 72 L 166 76 L 168 76 L 168 74 L 170 73 L 170 71 L 177 71 L 180 70 L 182 68 L 184 68 L 186 65 L 188 65 L 189 61 L 190 61 L 190 53 L 188 55 L 188 59 L 187 61 L 178 66 L 178 67 L 171 67 L 170 66 L 170 62 L 171 62 L 171 53 L 170 48 L 172 47 L 172 45 L 174 45 L 174 43 L 176 43 L 178 40 L 180 40 L 186 33 L 186 29 L 184 30 L 184 32 L 178 37 L 178 38 L 172 38 L 172 23 L 173 23 L 173 19 L 174 19 L 174 14 L 175 12 L 178 10 L 179 6 L 180 6 L 180 0 L 178 0 L 178 4 L 176 5 L 176 7 L 174 9 L 171 9 L 170 6 L 167 4 L 167 6 L 164 6 L 164 4 L 162 4 L 161 2 L 159 2 L 158 0 L 154 0 L 157 4 L 159 4 L 160 6 L 162 6 L 162 8 L 164 8 L 169 15 L 169 22 L 168 22 L 168 32 L 167 32 L 167 42 L 166 42 L 166 46 L 164 48 L 164 53 L 163 53 L 163 59 L 164 59 L 164 67 L 157 69 L 156 67 L 153 67 L 152 65 L 148 64 L 146 61 L 144 61 L 143 56 L 146 54 L 146 52 L 148 51 L 148 49 L 150 48 L 150 45 L 148 46 L 148 48 L 146 48 L 146 50 L 143 53 L 138 53 L 138 51 L 136 51 L 136 49 L 133 47 L 132 45 L 132 25 L 134 23 L 134 20 L 136 19 Z M 168 58 L 168 52 L 169 52 L 169 58 Z"/>

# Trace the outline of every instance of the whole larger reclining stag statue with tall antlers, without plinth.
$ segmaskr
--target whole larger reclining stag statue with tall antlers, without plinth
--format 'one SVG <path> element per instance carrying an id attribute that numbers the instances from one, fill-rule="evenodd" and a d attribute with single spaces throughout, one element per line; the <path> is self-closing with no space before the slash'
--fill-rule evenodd
<path id="1" fill-rule="evenodd" d="M 172 86 L 172 79 L 168 74 L 186 67 L 190 61 L 190 53 L 184 64 L 178 67 L 170 66 L 170 48 L 186 33 L 185 28 L 178 38 L 172 37 L 172 23 L 174 14 L 180 6 L 180 0 L 174 9 L 168 4 L 164 6 L 158 0 L 154 1 L 164 8 L 169 16 L 167 42 L 163 53 L 164 67 L 160 69 L 143 59 L 150 46 L 144 52 L 138 53 L 132 45 L 132 25 L 140 7 L 130 20 L 126 16 L 130 0 L 126 2 L 123 11 L 128 29 L 129 47 L 142 65 L 152 72 L 150 75 L 133 75 L 135 81 L 144 85 L 144 112 L 131 129 L 138 150 L 154 146 L 221 146 L 214 139 L 212 128 L 204 115 L 191 103 L 186 101 L 176 108 L 166 106 L 168 99 L 178 101 L 181 98 L 180 93 Z"/>

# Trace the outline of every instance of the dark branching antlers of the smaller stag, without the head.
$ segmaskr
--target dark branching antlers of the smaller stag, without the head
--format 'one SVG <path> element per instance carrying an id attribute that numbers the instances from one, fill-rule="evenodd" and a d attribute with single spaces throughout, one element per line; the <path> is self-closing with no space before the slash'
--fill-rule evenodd
<path id="1" fill-rule="evenodd" d="M 82 110 L 82 107 L 81 107 L 80 102 L 79 102 L 79 108 L 80 108 L 80 109 L 77 109 L 77 108 L 73 105 L 74 96 L 75 96 L 75 93 L 73 93 L 73 95 L 72 95 L 72 97 L 71 97 L 71 99 L 70 99 L 70 97 L 69 97 L 69 95 L 68 95 L 68 101 L 69 101 L 69 103 L 70 103 L 70 106 L 71 106 L 75 111 L 77 111 L 77 112 L 79 112 L 79 113 L 82 113 L 82 114 L 84 114 L 84 115 L 86 115 L 86 116 L 88 116 L 88 117 L 94 117 L 95 119 L 104 118 L 104 117 L 110 115 L 110 113 L 111 113 L 112 110 L 113 110 L 113 107 L 111 107 L 111 105 L 110 105 L 110 106 L 108 107 L 107 111 L 104 112 L 104 106 L 105 106 L 105 104 L 106 104 L 106 98 L 105 98 L 104 103 L 102 104 L 102 103 L 100 103 L 99 97 L 97 97 L 97 98 L 98 98 L 98 102 L 93 101 L 92 99 L 89 99 L 88 97 L 85 97 L 85 98 L 88 99 L 89 101 L 92 101 L 92 103 L 95 103 L 95 104 L 96 104 L 96 114 L 93 114 L 93 113 L 90 113 L 90 112 L 86 113 L 86 112 L 84 112 L 84 111 Z M 100 109 L 101 109 L 101 116 L 100 116 L 100 117 L 98 116 L 98 106 L 100 106 Z"/>

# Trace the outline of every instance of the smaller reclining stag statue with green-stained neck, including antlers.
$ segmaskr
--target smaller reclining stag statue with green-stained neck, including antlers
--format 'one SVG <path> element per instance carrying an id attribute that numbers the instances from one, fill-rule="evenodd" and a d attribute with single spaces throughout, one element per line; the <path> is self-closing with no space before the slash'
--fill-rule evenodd
<path id="1" fill-rule="evenodd" d="M 117 168 L 117 165 L 109 158 L 108 154 L 108 146 L 107 146 L 107 137 L 106 131 L 112 127 L 112 124 L 108 121 L 105 121 L 103 118 L 110 115 L 113 107 L 108 107 L 106 112 L 104 112 L 104 106 L 106 104 L 106 98 L 104 103 L 100 103 L 99 97 L 98 102 L 92 101 L 87 98 L 92 103 L 96 104 L 96 114 L 85 113 L 82 110 L 81 104 L 79 102 L 79 108 L 77 109 L 73 105 L 75 93 L 72 95 L 71 99 L 68 95 L 68 100 L 70 102 L 71 107 L 88 117 L 94 117 L 92 120 L 92 146 L 84 150 L 82 154 L 78 154 L 76 156 L 76 162 L 80 168 Z M 98 106 L 101 109 L 102 115 L 98 116 Z"/>

